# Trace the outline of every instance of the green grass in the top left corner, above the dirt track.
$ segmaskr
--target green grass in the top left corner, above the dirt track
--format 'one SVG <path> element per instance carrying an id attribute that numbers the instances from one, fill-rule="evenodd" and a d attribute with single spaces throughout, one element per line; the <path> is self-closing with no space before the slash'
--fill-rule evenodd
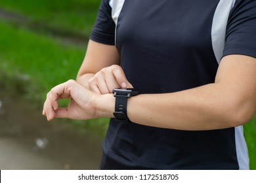
<path id="1" fill-rule="evenodd" d="M 32 21 L 89 35 L 100 0 L 1 0 L 0 7 L 29 16 Z"/>

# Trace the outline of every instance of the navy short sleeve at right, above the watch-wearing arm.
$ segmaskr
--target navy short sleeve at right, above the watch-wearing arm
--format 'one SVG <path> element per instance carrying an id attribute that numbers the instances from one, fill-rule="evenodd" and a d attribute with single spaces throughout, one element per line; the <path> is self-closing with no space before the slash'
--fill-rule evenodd
<path id="1" fill-rule="evenodd" d="M 236 1 L 226 27 L 223 56 L 242 54 L 256 58 L 256 1 Z"/>

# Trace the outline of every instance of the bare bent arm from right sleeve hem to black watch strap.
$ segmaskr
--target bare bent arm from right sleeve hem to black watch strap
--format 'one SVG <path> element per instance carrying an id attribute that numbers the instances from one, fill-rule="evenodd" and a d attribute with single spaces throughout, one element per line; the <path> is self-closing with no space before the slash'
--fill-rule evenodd
<path id="1" fill-rule="evenodd" d="M 256 112 L 256 58 L 225 56 L 215 83 L 176 93 L 138 95 L 127 105 L 129 119 L 142 125 L 183 130 L 243 125 Z"/>

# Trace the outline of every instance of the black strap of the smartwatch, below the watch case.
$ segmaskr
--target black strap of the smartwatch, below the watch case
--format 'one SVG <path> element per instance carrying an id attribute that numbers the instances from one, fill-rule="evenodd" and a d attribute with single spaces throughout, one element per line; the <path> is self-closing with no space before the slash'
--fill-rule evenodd
<path id="1" fill-rule="evenodd" d="M 127 95 L 116 94 L 116 105 L 115 112 L 113 113 L 116 120 L 127 122 L 129 118 L 127 117 Z"/>

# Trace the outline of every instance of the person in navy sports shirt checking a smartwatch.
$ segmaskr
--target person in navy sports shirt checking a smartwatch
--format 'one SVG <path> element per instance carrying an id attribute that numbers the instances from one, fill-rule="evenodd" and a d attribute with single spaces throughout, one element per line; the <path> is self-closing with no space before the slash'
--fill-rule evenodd
<path id="1" fill-rule="evenodd" d="M 100 169 L 249 169 L 254 78 L 256 1 L 102 0 L 77 81 L 43 114 L 110 117 Z"/>

